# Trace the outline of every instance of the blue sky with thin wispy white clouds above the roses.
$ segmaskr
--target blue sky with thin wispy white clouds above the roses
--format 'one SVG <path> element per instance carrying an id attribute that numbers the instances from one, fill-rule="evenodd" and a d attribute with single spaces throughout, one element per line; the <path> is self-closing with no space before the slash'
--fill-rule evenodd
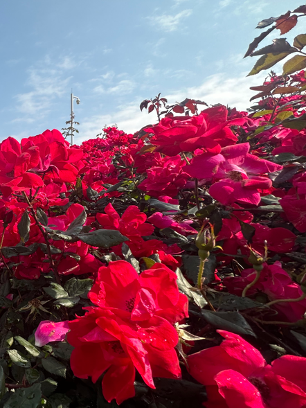
<path id="1" fill-rule="evenodd" d="M 135 132 L 154 123 L 140 112 L 161 94 L 248 107 L 245 78 L 257 57 L 243 59 L 260 34 L 258 21 L 294 10 L 303 0 L 14 0 L 1 1 L 0 140 L 61 129 L 70 94 L 80 134 L 104 125 Z M 306 19 L 285 37 L 306 32 Z M 278 32 L 279 33 L 279 32 Z M 271 39 L 278 37 L 273 32 Z M 280 68 L 278 69 L 280 73 Z"/>

